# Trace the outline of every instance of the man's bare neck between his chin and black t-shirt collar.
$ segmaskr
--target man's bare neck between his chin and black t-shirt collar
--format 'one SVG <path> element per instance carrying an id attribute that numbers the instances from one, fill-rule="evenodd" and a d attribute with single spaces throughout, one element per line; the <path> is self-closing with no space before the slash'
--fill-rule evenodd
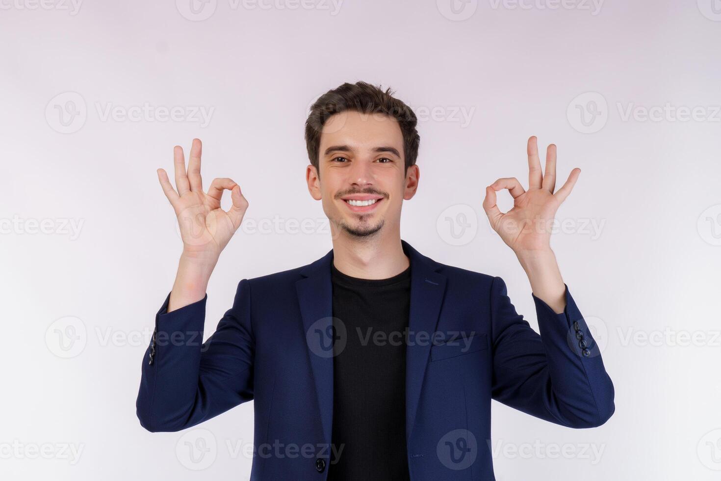
<path id="1" fill-rule="evenodd" d="M 379 231 L 371 238 L 352 237 L 343 232 L 333 239 L 333 265 L 340 272 L 362 279 L 386 279 L 410 265 L 403 252 L 400 233 Z"/>

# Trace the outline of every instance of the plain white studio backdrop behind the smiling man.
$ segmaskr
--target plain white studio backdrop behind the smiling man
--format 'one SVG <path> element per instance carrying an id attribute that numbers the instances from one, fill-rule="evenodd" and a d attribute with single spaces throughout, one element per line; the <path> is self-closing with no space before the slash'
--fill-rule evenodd
<path id="1" fill-rule="evenodd" d="M 470 0 L 454 13 L 443 0 L 211 0 L 198 14 L 187 0 L 45 1 L 0 0 L 4 480 L 247 479 L 251 459 L 234 449 L 252 444 L 252 402 L 198 426 L 217 446 L 201 470 L 183 454 L 193 429 L 149 433 L 136 418 L 181 250 L 155 170 L 172 172 L 172 146 L 200 137 L 205 186 L 232 177 L 250 203 L 208 287 L 207 337 L 240 279 L 331 248 L 325 229 L 285 227 L 324 219 L 304 181 L 307 109 L 358 80 L 392 87 L 421 118 L 402 238 L 503 277 L 536 328 L 528 280 L 487 226 L 484 188 L 528 184 L 531 135 L 542 150 L 557 144 L 558 185 L 582 171 L 552 247 L 605 345 L 616 413 L 571 430 L 494 403 L 497 479 L 719 479 L 718 1 Z M 182 118 L 120 115 L 146 104 Z M 208 125 L 193 107 L 213 109 Z M 462 245 L 446 217 L 466 229 Z M 249 219 L 281 228 L 245 229 Z"/>

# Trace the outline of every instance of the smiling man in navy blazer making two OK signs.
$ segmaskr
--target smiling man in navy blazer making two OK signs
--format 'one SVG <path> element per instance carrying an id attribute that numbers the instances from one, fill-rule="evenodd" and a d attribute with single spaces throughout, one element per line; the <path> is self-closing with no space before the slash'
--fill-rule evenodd
<path id="1" fill-rule="evenodd" d="M 306 181 L 333 249 L 242 279 L 202 345 L 205 288 L 248 202 L 230 179 L 203 193 L 198 139 L 187 172 L 175 147 L 177 192 L 158 173 L 184 250 L 143 357 L 144 428 L 180 431 L 254 400 L 252 480 L 494 480 L 491 399 L 571 428 L 611 417 L 613 384 L 544 229 L 580 169 L 554 193 L 555 146 L 543 173 L 531 137 L 528 190 L 515 178 L 486 187 L 490 224 L 531 283 L 539 335 L 502 278 L 435 262 L 400 238 L 419 141 L 414 113 L 389 89 L 358 82 L 319 97 Z M 496 206 L 503 189 L 514 198 L 507 213 Z"/>

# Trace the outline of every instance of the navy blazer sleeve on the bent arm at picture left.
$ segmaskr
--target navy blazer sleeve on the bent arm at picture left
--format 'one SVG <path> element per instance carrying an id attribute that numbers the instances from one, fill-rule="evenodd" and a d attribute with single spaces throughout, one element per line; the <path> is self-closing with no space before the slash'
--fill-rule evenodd
<path id="1" fill-rule="evenodd" d="M 190 428 L 253 398 L 249 281 L 240 281 L 233 306 L 205 343 L 208 295 L 172 312 L 169 299 L 155 316 L 136 401 L 138 420 L 151 432 Z"/>

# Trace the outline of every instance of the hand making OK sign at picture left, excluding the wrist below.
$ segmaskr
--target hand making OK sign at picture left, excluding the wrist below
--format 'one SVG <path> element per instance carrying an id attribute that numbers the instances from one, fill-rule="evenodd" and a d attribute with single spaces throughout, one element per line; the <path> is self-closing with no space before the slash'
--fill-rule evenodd
<path id="1" fill-rule="evenodd" d="M 221 251 L 240 226 L 248 201 L 241 193 L 240 186 L 229 178 L 213 179 L 208 193 L 203 192 L 203 180 L 200 177 L 202 149 L 200 139 L 194 138 L 186 172 L 182 147 L 174 147 L 177 192 L 164 169 L 158 169 L 158 179 L 180 225 L 183 256 L 206 260 L 208 264 L 215 265 Z M 233 206 L 227 212 L 221 209 L 224 190 L 231 191 L 233 200 Z"/>

